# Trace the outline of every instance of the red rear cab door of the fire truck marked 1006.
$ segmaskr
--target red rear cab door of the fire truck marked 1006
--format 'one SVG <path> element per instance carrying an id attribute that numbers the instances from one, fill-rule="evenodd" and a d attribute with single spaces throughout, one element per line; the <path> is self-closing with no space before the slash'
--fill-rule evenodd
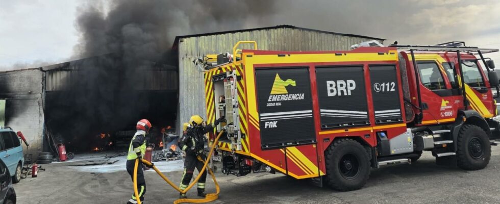
<path id="1" fill-rule="evenodd" d="M 422 124 L 454 121 L 462 95 L 451 83 L 451 80 L 455 82 L 454 76 L 448 76 L 450 72 L 445 71 L 435 60 L 419 60 L 417 64 L 423 108 Z"/>

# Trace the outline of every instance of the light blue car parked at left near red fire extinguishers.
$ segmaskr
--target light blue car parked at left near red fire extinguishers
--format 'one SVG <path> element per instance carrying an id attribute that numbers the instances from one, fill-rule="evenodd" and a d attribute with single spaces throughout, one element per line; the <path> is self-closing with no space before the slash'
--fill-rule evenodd
<path id="1" fill-rule="evenodd" d="M 9 169 L 12 183 L 19 183 L 24 154 L 21 140 L 10 127 L 0 127 L 0 159 Z"/>

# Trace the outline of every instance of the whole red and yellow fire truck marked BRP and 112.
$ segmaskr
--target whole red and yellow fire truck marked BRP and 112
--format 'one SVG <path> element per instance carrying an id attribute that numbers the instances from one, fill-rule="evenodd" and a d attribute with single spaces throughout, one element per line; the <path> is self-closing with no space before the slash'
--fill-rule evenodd
<path id="1" fill-rule="evenodd" d="M 251 43 L 254 49 L 237 49 Z M 205 72 L 207 122 L 222 172 L 281 172 L 336 190 L 362 188 L 370 169 L 410 164 L 485 168 L 500 136 L 498 52 L 465 46 L 360 46 L 331 52 L 258 50 L 197 61 Z M 498 95 L 498 94 L 496 94 Z"/>

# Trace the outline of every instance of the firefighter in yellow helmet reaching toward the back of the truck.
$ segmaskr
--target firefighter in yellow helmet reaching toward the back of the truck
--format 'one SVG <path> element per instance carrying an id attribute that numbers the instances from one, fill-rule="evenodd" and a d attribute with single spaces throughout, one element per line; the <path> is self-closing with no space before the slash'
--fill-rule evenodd
<path id="1" fill-rule="evenodd" d="M 194 168 L 201 172 L 204 162 L 207 159 L 205 155 L 205 134 L 212 131 L 216 125 L 224 121 L 224 116 L 215 120 L 215 122 L 203 125 L 203 118 L 199 115 L 191 116 L 189 123 L 184 131 L 183 136 L 179 141 L 179 147 L 186 152 L 184 158 L 184 173 L 182 174 L 181 190 L 189 186 L 189 182 L 193 177 Z M 206 197 L 205 180 L 207 179 L 207 171 L 204 171 L 197 183 L 198 196 Z M 180 193 L 180 198 L 186 198 L 186 194 Z"/>

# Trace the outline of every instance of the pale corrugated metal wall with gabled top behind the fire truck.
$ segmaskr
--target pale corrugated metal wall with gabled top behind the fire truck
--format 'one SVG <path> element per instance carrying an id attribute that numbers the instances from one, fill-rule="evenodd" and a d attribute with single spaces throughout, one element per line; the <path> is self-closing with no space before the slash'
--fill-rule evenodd
<path id="1" fill-rule="evenodd" d="M 193 60 L 206 54 L 232 52 L 234 44 L 242 40 L 257 41 L 263 50 L 348 50 L 353 44 L 374 40 L 331 33 L 276 28 L 181 38 L 179 42 L 179 115 L 178 124 L 187 122 L 194 114 L 206 115 L 203 72 L 196 69 Z M 249 49 L 251 45 L 242 45 Z M 179 129 L 180 129 L 179 125 Z"/>

